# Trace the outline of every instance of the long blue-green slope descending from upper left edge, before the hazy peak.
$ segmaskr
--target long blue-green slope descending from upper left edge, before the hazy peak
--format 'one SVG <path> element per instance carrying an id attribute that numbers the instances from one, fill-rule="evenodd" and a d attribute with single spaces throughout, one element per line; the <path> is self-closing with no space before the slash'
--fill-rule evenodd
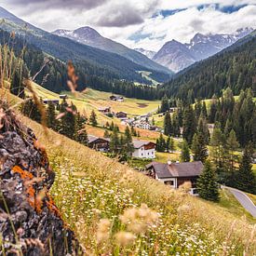
<path id="1" fill-rule="evenodd" d="M 94 65 L 95 69 L 99 67 L 103 70 L 101 76 L 104 78 L 123 78 L 129 81 L 150 83 L 146 79 L 143 79 L 138 71 L 151 72 L 152 77 L 159 82 L 163 82 L 169 77 L 167 73 L 148 69 L 120 55 L 95 47 L 88 47 L 68 38 L 37 29 L 33 25 L 26 24 L 25 21 L 10 14 L 4 8 L 1 8 L 0 18 L 4 19 L 0 24 L 0 28 L 8 32 L 14 31 L 16 34 L 23 35 L 28 43 L 39 47 L 47 54 L 61 61 L 72 60 L 81 65 L 86 65 L 87 63 Z"/>

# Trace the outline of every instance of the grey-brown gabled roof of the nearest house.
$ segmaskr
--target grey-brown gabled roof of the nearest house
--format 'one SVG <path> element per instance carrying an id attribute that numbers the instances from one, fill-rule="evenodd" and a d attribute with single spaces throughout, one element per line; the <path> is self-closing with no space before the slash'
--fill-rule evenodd
<path id="1" fill-rule="evenodd" d="M 177 178 L 177 177 L 195 177 L 199 176 L 204 168 L 201 161 L 187 163 L 162 164 L 153 162 L 146 166 L 147 169 L 154 168 L 159 179 Z"/>

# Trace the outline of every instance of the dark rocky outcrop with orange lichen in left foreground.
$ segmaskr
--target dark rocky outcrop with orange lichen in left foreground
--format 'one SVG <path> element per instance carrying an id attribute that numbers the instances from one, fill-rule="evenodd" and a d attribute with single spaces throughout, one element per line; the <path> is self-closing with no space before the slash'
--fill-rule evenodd
<path id="1" fill-rule="evenodd" d="M 33 131 L 0 102 L 0 248 L 4 255 L 82 254 L 48 193 L 54 178 Z"/>

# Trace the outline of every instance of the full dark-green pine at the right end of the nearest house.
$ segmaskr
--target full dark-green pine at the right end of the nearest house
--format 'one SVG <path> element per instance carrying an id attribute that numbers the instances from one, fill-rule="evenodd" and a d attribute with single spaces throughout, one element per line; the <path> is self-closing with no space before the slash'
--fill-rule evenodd
<path id="1" fill-rule="evenodd" d="M 203 199 L 218 202 L 220 199 L 219 185 L 214 170 L 211 168 L 209 161 L 206 161 L 205 167 L 197 179 L 196 188 L 198 194 Z"/>

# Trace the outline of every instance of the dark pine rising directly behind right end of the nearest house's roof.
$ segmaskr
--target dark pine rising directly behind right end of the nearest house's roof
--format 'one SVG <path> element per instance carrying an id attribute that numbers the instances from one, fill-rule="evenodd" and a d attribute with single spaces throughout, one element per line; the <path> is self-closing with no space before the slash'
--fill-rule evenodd
<path id="1" fill-rule="evenodd" d="M 208 157 L 208 148 L 201 133 L 198 133 L 198 135 L 195 133 L 191 149 L 194 161 L 202 161 L 203 163 L 206 161 Z"/>

